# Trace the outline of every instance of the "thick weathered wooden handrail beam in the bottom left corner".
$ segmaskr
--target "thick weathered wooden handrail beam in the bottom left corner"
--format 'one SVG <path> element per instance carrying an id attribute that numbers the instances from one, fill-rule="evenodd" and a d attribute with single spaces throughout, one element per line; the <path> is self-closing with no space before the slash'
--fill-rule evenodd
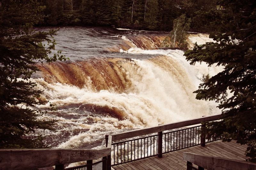
<path id="1" fill-rule="evenodd" d="M 0 149 L 0 169 L 36 169 L 110 155 L 110 148 L 102 149 Z"/>

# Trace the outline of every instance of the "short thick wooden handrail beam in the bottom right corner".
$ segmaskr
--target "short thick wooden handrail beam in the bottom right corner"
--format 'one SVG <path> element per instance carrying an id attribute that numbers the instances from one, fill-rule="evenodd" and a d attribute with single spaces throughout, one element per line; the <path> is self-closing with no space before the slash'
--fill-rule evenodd
<path id="1" fill-rule="evenodd" d="M 183 159 L 201 166 L 207 170 L 256 170 L 256 164 L 240 160 L 226 159 L 220 157 L 212 157 L 199 155 L 190 152 L 183 152 Z"/>

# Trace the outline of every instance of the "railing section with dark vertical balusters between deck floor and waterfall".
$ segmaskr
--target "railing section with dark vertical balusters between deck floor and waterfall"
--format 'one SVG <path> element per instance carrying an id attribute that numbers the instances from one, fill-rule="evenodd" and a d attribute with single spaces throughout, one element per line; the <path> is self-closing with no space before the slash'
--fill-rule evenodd
<path id="1" fill-rule="evenodd" d="M 111 147 L 113 154 L 111 166 L 156 155 L 161 158 L 163 153 L 195 145 L 204 146 L 205 143 L 214 139 L 205 141 L 204 137 L 200 138 L 198 131 L 201 125 L 195 125 L 204 121 L 218 120 L 219 118 L 220 115 L 214 115 L 109 135 L 112 142 L 114 142 Z M 194 125 L 194 127 L 184 128 L 191 125 Z M 163 133 L 163 131 L 166 132 Z M 127 138 L 129 140 L 123 140 Z M 116 142 L 118 140 L 119 142 Z"/>

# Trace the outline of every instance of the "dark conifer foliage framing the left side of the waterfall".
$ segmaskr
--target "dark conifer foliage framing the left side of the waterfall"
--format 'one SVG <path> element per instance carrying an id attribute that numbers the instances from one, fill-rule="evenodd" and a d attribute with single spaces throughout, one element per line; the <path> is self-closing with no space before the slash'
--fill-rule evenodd
<path id="1" fill-rule="evenodd" d="M 66 60 L 65 56 L 48 54 L 55 48 L 49 32 L 35 32 L 33 25 L 42 19 L 44 9 L 34 0 L 2 0 L 0 2 L 0 147 L 43 147 L 41 136 L 24 138 L 35 128 L 52 129 L 55 120 L 37 119 L 45 111 L 38 110 L 42 90 L 36 90 L 31 75 L 38 71 L 36 63 Z M 46 41 L 46 45 L 43 45 Z M 47 44 L 48 42 L 48 44 Z"/>

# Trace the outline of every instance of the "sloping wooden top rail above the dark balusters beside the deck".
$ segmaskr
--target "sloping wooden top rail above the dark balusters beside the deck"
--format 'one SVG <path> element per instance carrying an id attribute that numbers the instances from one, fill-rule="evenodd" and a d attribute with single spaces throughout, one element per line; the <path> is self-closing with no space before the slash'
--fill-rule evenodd
<path id="1" fill-rule="evenodd" d="M 157 133 L 160 131 L 167 131 L 167 130 L 172 130 L 176 128 L 181 128 L 181 127 L 186 127 L 190 125 L 195 125 L 195 124 L 200 124 L 201 122 L 205 121 L 214 121 L 214 120 L 219 120 L 221 115 L 214 115 L 214 116 L 206 116 L 206 117 L 201 117 L 197 119 L 190 119 L 190 120 L 185 120 L 185 121 L 180 121 L 172 124 L 164 124 L 164 125 L 158 125 L 154 127 L 148 127 L 144 129 L 138 129 L 138 130 L 133 130 L 133 131 L 126 131 L 122 133 L 117 133 L 117 134 L 112 134 L 112 141 L 117 141 L 117 140 L 122 140 L 126 138 L 132 138 L 136 136 L 141 136 L 141 135 L 147 135 L 151 133 Z"/>

